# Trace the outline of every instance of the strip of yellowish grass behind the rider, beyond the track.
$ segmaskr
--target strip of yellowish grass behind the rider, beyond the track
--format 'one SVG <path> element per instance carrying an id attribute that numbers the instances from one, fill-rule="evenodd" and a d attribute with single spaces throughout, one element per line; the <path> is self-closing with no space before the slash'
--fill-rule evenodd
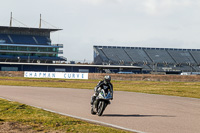
<path id="1" fill-rule="evenodd" d="M 0 77 L 0 85 L 93 89 L 98 80 Z M 200 82 L 112 81 L 114 91 L 200 98 Z"/>

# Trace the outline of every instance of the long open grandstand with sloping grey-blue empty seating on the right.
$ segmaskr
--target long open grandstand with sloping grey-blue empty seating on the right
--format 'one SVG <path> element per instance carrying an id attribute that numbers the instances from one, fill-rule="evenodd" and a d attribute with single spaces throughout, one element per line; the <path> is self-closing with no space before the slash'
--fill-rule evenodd
<path id="1" fill-rule="evenodd" d="M 200 49 L 94 46 L 96 65 L 140 66 L 143 72 L 200 72 Z"/>

